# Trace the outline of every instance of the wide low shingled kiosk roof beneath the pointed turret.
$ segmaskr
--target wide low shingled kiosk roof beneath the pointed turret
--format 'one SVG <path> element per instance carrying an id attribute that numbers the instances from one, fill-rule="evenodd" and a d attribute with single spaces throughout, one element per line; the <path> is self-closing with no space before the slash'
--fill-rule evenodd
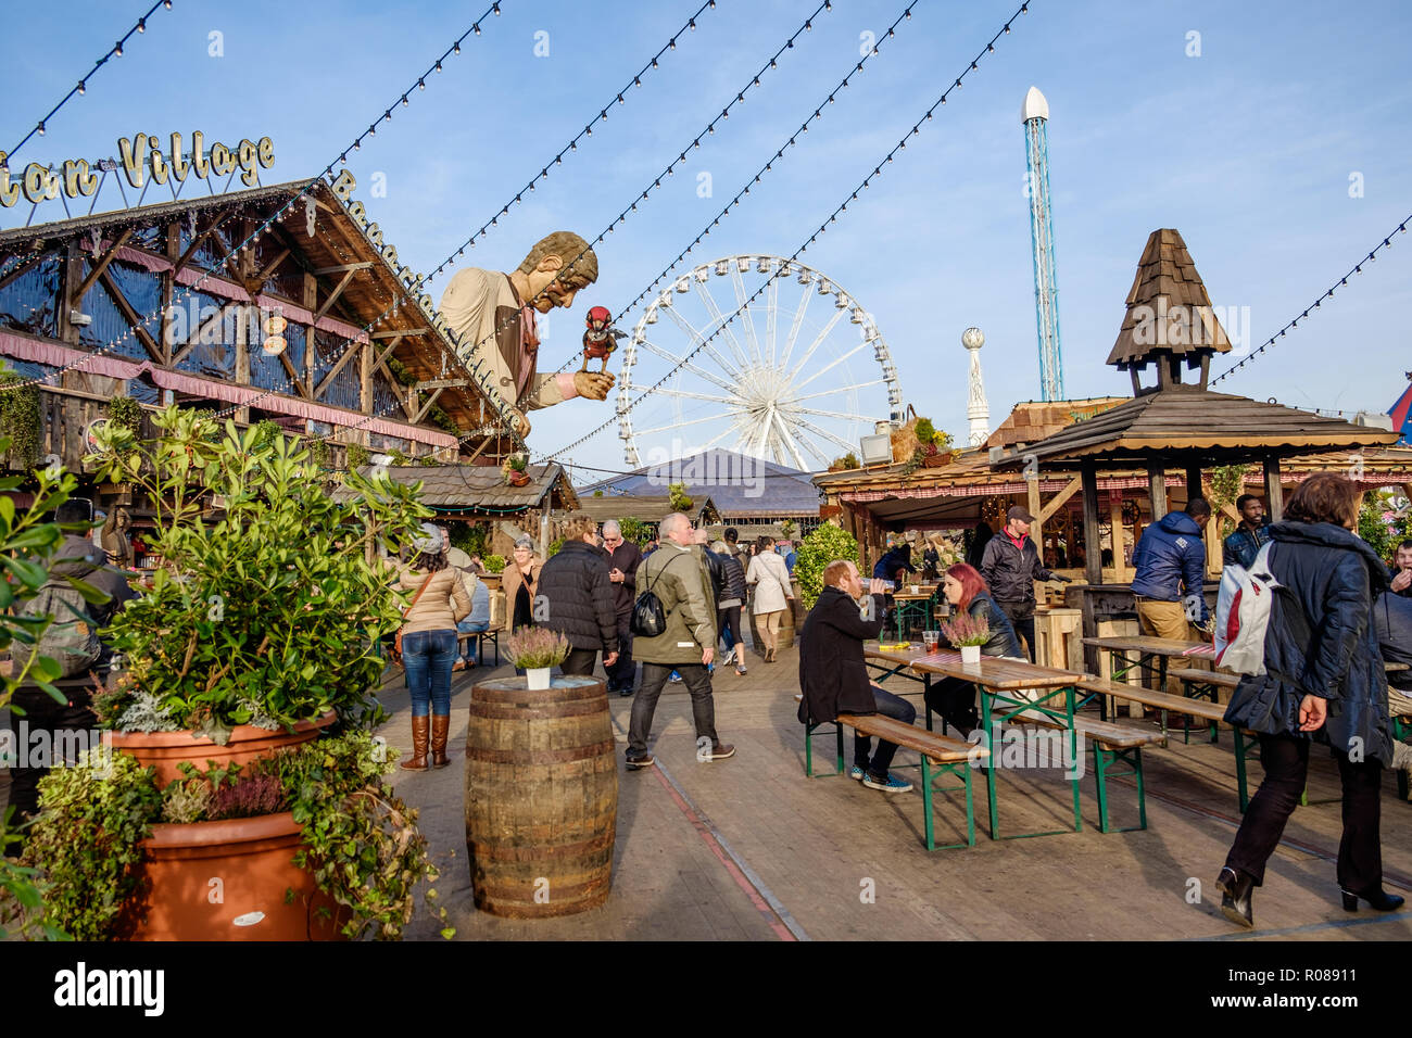
<path id="1" fill-rule="evenodd" d="M 1187 462 L 1228 465 L 1264 455 L 1288 458 L 1388 445 L 1396 438 L 1395 432 L 1341 418 L 1183 387 L 1128 400 L 1027 443 L 1022 455 L 1011 451 L 995 467 L 1015 469 L 1027 458 L 1035 458 L 1041 466 L 1080 459 L 1100 465 L 1161 460 L 1172 467 Z"/>

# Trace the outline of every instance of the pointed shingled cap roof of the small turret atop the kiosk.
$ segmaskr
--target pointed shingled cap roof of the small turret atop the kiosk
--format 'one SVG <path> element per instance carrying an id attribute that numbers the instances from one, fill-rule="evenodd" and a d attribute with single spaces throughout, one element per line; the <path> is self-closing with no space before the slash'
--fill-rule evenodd
<path id="1" fill-rule="evenodd" d="M 1141 367 L 1163 354 L 1196 357 L 1231 349 L 1186 241 L 1175 227 L 1148 236 L 1127 304 L 1107 360 L 1118 369 Z"/>

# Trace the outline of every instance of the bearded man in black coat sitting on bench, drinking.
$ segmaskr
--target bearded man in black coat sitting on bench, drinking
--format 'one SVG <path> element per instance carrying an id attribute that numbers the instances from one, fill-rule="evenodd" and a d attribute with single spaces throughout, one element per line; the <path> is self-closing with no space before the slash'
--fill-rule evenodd
<path id="1" fill-rule="evenodd" d="M 881 713 L 911 724 L 916 708 L 874 685 L 863 661 L 863 643 L 882 630 L 882 582 L 873 579 L 868 585 L 873 597 L 863 607 L 858 606 L 864 597 L 863 579 L 854 563 L 834 559 L 825 566 L 823 583 L 799 638 L 801 723 L 822 724 L 840 713 Z M 911 782 L 888 772 L 897 746 L 880 739 L 877 753 L 870 757 L 871 746 L 868 736 L 854 736 L 853 778 L 884 792 L 911 789 Z"/>

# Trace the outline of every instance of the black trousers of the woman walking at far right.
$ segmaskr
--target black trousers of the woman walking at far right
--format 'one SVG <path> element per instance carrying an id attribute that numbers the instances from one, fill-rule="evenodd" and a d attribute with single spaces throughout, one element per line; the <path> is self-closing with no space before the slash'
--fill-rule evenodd
<path id="1" fill-rule="evenodd" d="M 1245 808 L 1226 864 L 1261 885 L 1265 863 L 1275 853 L 1285 823 L 1299 804 L 1309 772 L 1309 740 L 1295 736 L 1261 736 L 1260 763 L 1265 781 Z M 1354 894 L 1382 885 L 1382 847 L 1378 833 L 1382 764 L 1360 763 L 1334 751 L 1343 780 L 1343 839 L 1339 842 L 1339 885 Z"/>

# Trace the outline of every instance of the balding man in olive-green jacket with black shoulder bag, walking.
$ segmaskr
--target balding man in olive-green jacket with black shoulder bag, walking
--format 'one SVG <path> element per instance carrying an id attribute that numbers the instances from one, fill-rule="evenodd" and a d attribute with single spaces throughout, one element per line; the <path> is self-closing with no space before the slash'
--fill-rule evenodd
<path id="1" fill-rule="evenodd" d="M 702 547 L 695 544 L 692 521 L 679 511 L 659 525 L 662 547 L 648 555 L 637 575 L 638 595 L 652 592 L 666 614 L 666 630 L 655 638 L 637 636 L 633 654 L 642 661 L 642 685 L 633 700 L 633 722 L 627 736 L 627 767 L 647 768 L 657 763 L 647 750 L 657 699 L 668 675 L 682 675 L 692 693 L 696 722 L 696 758 L 724 760 L 736 747 L 716 736 L 716 702 L 707 667 L 716 655 L 716 596 Z"/>

